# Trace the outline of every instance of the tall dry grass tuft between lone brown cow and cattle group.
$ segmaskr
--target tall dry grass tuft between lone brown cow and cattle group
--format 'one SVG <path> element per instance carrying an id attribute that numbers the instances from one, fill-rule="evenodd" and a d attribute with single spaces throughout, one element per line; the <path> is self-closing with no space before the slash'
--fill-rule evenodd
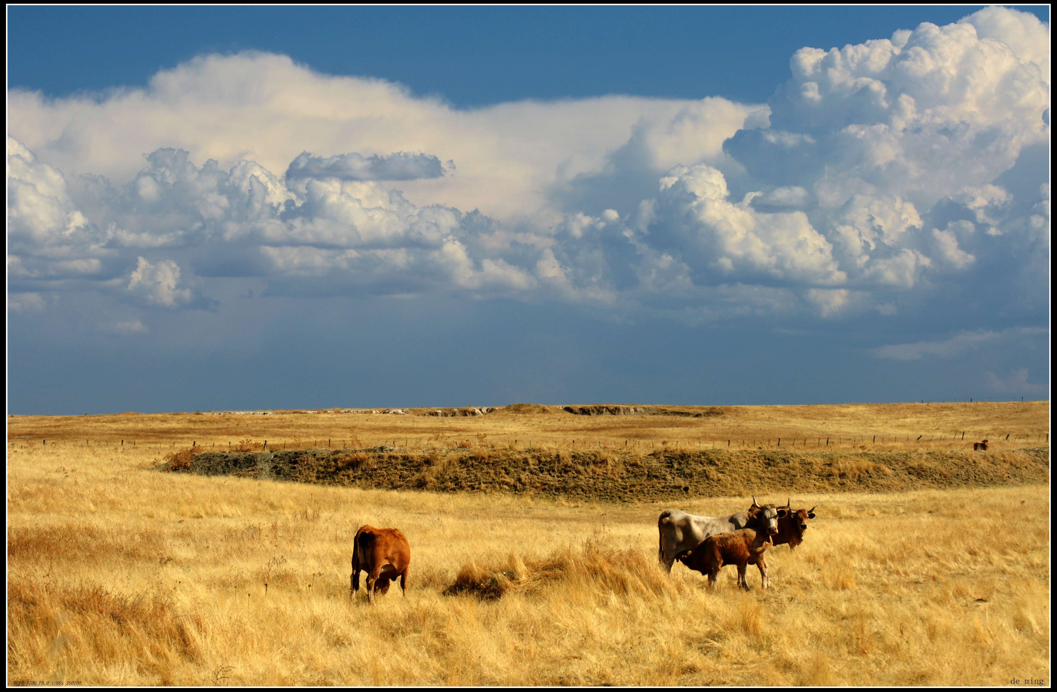
<path id="1" fill-rule="evenodd" d="M 654 598 L 673 596 L 682 588 L 660 569 L 655 558 L 644 551 L 602 548 L 588 541 L 579 551 L 565 549 L 542 560 L 522 559 L 513 553 L 505 565 L 482 567 L 470 560 L 460 567 L 444 593 L 497 599 L 507 593 L 531 594 L 553 587 Z"/>

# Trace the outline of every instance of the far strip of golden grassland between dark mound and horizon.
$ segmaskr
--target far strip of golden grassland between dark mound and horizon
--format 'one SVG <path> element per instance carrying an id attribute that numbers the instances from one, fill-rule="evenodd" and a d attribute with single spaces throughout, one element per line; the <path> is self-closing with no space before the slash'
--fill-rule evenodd
<path id="1" fill-rule="evenodd" d="M 382 410 L 382 409 L 376 409 Z M 572 415 L 557 407 L 514 405 L 483 416 L 274 411 L 268 415 L 124 413 L 86 416 L 8 416 L 8 441 L 135 444 L 218 450 L 229 443 L 270 441 L 272 448 L 389 445 L 426 449 L 459 442 L 489 446 L 596 449 L 667 444 L 680 449 L 790 448 L 871 450 L 971 449 L 988 438 L 997 451 L 1047 444 L 1050 403 L 861 404 L 845 406 L 654 407 L 655 414 Z M 420 410 L 422 411 L 422 410 Z M 694 417 L 699 415 L 700 417 Z M 478 435 L 485 435 L 480 441 Z M 964 438 L 963 438 L 964 435 Z M 1009 439 L 1006 441 L 1005 437 Z M 1000 438 L 1001 437 L 1001 438 Z M 779 446 L 778 441 L 782 439 Z M 339 443 L 341 443 L 339 445 Z M 625 445 L 625 443 L 628 443 Z M 1032 444 L 1035 443 L 1035 444 Z"/>

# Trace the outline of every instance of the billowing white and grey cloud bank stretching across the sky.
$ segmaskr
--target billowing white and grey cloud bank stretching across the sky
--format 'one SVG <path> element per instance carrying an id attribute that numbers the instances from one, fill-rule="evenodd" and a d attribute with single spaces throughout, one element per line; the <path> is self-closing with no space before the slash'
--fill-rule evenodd
<path id="1" fill-rule="evenodd" d="M 457 111 L 266 54 L 104 98 L 11 92 L 8 305 L 96 291 L 209 310 L 210 279 L 253 277 L 278 295 L 443 291 L 691 320 L 891 317 L 981 282 L 1037 308 L 1049 55 L 1049 25 L 989 7 L 802 49 L 766 106 Z"/>

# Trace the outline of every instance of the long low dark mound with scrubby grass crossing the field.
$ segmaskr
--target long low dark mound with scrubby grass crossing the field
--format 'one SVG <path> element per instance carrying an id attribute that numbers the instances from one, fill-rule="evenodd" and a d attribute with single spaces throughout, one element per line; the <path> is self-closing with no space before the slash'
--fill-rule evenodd
<path id="1" fill-rule="evenodd" d="M 552 451 L 392 448 L 178 454 L 160 470 L 439 492 L 608 501 L 760 492 L 895 492 L 1047 483 L 1049 448 L 1013 452 Z"/>

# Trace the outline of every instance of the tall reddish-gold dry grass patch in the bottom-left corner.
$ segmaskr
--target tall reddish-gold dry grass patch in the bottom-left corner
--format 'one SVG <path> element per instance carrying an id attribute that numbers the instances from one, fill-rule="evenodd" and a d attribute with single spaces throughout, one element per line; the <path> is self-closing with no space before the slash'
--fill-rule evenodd
<path id="1" fill-rule="evenodd" d="M 197 614 L 184 618 L 157 595 L 7 583 L 8 665 L 20 669 L 47 667 L 59 655 L 68 663 L 135 661 L 141 673 L 164 677 L 180 659 L 200 657 L 202 630 Z"/>

